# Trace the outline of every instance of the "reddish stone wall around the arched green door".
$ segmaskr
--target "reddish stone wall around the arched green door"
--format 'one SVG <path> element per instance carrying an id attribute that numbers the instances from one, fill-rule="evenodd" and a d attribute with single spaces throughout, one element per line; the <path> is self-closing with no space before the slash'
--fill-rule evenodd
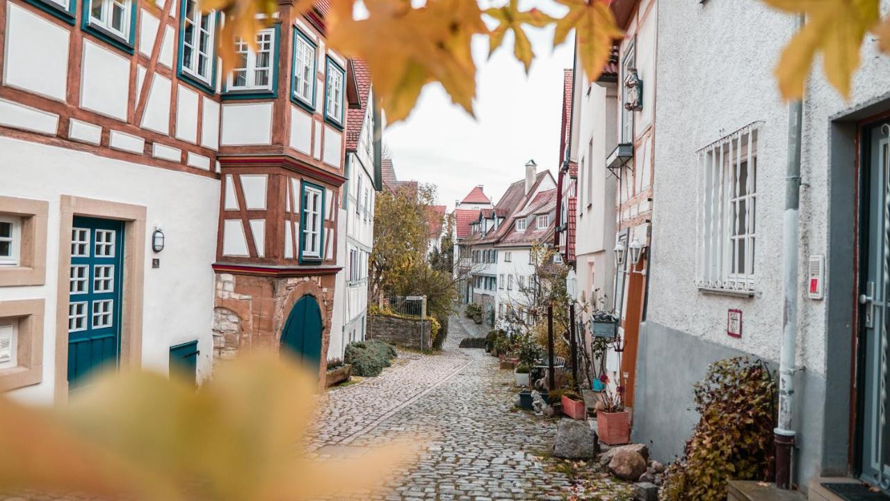
<path id="1" fill-rule="evenodd" d="M 214 301 L 214 358 L 242 349 L 279 349 L 281 329 L 295 302 L 306 294 L 321 309 L 321 357 L 326 360 L 334 307 L 335 275 L 273 277 L 217 274 Z M 320 372 L 326 367 L 322 363 Z M 321 374 L 321 381 L 324 381 Z"/>

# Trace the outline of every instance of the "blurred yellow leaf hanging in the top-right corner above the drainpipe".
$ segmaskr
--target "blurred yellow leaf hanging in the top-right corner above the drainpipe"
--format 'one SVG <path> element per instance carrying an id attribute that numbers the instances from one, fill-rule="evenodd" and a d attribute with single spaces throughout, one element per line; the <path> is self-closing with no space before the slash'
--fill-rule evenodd
<path id="1" fill-rule="evenodd" d="M 804 95 L 806 77 L 816 53 L 824 57 L 831 86 L 850 97 L 850 81 L 859 67 L 862 38 L 880 17 L 879 0 L 764 0 L 784 12 L 805 14 L 806 22 L 782 50 L 774 71 L 785 99 Z"/>

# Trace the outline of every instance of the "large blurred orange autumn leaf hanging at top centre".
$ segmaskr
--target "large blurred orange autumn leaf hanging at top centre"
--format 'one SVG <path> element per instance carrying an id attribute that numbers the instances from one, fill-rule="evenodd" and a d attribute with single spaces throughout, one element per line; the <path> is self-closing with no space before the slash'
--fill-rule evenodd
<path id="1" fill-rule="evenodd" d="M 475 0 L 430 0 L 419 8 L 403 0 L 368 0 L 365 5 L 368 18 L 357 21 L 341 14 L 328 42 L 368 63 L 387 121 L 408 117 L 430 82 L 440 82 L 451 100 L 472 115 L 476 66 L 470 41 L 487 32 Z"/>

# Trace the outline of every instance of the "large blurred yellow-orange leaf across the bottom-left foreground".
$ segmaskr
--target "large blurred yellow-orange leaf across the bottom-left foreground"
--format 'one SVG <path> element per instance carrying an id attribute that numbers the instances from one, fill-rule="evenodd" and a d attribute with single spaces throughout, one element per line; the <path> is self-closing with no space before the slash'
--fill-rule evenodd
<path id="1" fill-rule="evenodd" d="M 375 487 L 409 446 L 314 462 L 300 443 L 316 388 L 295 363 L 255 352 L 217 365 L 199 390 L 159 374 L 105 374 L 67 407 L 4 399 L 0 426 L 16 432 L 0 434 L 0 488 L 278 501 Z"/>

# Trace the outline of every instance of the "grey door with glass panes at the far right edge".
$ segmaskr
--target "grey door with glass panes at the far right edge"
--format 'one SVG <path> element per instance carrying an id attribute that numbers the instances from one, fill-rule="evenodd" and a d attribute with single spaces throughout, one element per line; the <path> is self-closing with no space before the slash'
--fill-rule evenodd
<path id="1" fill-rule="evenodd" d="M 890 488 L 890 428 L 887 426 L 887 340 L 890 329 L 890 123 L 864 132 L 865 196 L 862 228 L 864 283 L 860 302 L 863 335 L 859 356 L 862 412 L 862 480 Z"/>

